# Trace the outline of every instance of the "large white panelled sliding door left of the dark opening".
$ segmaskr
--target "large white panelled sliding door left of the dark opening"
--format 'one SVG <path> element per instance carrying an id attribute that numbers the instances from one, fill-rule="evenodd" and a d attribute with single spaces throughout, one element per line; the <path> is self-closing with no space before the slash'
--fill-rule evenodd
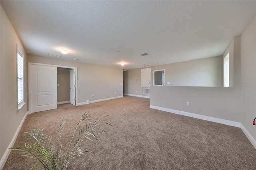
<path id="1" fill-rule="evenodd" d="M 57 109 L 57 67 L 30 64 L 30 113 Z"/>

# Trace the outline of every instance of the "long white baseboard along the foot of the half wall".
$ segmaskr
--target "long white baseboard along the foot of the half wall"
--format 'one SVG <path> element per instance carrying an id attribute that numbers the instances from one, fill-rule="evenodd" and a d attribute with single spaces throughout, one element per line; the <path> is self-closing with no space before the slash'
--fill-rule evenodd
<path id="1" fill-rule="evenodd" d="M 168 109 L 168 108 L 164 108 L 164 107 L 158 107 L 158 106 L 153 106 L 150 105 L 150 108 L 152 109 L 157 109 L 160 111 L 166 111 L 166 112 L 170 112 L 170 113 L 175 113 L 178 115 L 184 115 L 184 116 L 188 116 L 188 117 L 194 117 L 197 119 L 202 119 L 205 121 L 211 121 L 211 122 L 216 122 L 216 123 L 221 123 L 224 125 L 229 125 L 229 126 L 233 126 L 233 127 L 240 127 L 241 123 L 239 122 L 234 122 L 234 121 L 228 121 L 225 119 L 219 119 L 219 118 L 215 118 L 215 117 L 209 117 L 209 116 L 204 116 L 204 115 L 198 115 L 198 114 L 194 114 L 194 113 L 189 113 L 189 112 L 184 112 L 184 111 L 178 111 L 178 110 L 174 110 L 174 109 Z"/>

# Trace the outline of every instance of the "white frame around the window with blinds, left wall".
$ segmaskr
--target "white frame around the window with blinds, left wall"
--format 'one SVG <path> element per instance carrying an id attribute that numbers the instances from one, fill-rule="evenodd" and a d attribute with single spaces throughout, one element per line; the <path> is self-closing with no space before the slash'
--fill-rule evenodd
<path id="1" fill-rule="evenodd" d="M 20 103 L 18 103 L 18 54 L 20 55 L 20 57 L 22 57 L 22 81 L 23 81 L 23 99 Z M 22 50 L 20 49 L 20 47 L 18 46 L 18 44 L 16 44 L 16 92 L 17 92 L 17 99 L 16 99 L 16 107 L 17 107 L 17 112 L 22 109 L 22 107 L 26 104 L 25 100 L 24 100 L 24 53 L 22 52 Z"/>

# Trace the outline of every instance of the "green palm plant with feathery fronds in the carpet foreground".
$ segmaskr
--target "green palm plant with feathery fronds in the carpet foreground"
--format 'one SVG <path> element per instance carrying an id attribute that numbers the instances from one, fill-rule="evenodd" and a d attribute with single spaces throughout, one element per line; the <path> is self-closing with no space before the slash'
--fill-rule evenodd
<path id="1" fill-rule="evenodd" d="M 78 121 L 70 138 L 70 142 L 66 143 L 66 150 L 63 150 L 62 147 L 64 145 L 61 144 L 61 133 L 67 120 L 64 120 L 64 118 L 60 123 L 56 145 L 51 144 L 52 136 L 44 135 L 43 129 L 38 128 L 31 130 L 31 132 L 24 132 L 24 136 L 28 140 L 24 148 L 17 146 L 9 149 L 15 150 L 22 156 L 30 158 L 30 160 L 35 163 L 31 170 L 37 165 L 41 165 L 45 170 L 67 169 L 77 157 L 82 157 L 87 152 L 93 152 L 88 148 L 88 145 L 94 141 L 98 142 L 97 138 L 101 134 L 106 133 L 106 131 L 100 127 L 101 125 L 110 125 L 109 123 L 101 122 L 104 117 L 101 119 L 90 119 L 91 115 L 88 115 L 88 113 L 89 112 L 85 112 Z M 83 121 L 86 120 L 89 121 L 89 123 L 82 126 Z M 80 128 L 80 126 L 82 127 Z M 75 137 L 76 135 L 77 137 Z"/>

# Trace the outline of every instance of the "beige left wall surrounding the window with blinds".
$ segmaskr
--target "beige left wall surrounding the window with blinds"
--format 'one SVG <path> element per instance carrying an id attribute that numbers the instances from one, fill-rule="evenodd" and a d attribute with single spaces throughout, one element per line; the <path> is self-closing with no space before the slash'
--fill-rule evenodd
<path id="1" fill-rule="evenodd" d="M 0 158 L 6 153 L 20 123 L 28 111 L 27 56 L 10 20 L 0 6 Z M 24 101 L 26 105 L 16 111 L 16 44 L 24 53 Z M 1 167 L 0 167 L 1 168 Z"/>

